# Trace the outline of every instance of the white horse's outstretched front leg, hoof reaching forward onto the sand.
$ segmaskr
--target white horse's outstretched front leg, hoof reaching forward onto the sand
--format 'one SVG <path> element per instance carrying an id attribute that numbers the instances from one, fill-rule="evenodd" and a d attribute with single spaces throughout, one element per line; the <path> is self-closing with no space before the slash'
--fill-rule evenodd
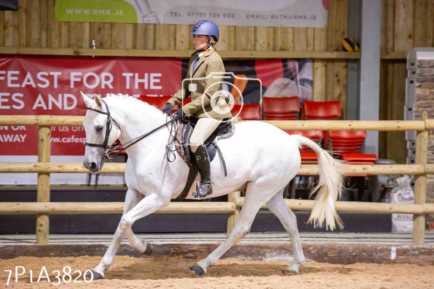
<path id="1" fill-rule="evenodd" d="M 125 215 L 125 213 L 127 213 L 135 205 L 137 205 L 138 202 L 143 199 L 143 197 L 144 195 L 140 194 L 137 190 L 128 189 L 127 194 L 125 195 L 125 206 L 123 215 Z M 99 262 L 98 266 L 96 266 L 92 271 L 94 280 L 104 278 L 104 271 L 108 269 L 112 264 L 113 257 L 115 256 L 116 251 L 118 250 L 119 245 L 122 243 L 122 240 L 124 240 L 124 238 L 125 233 L 118 225 L 118 227 L 116 228 L 116 232 L 113 235 L 112 243 L 110 243 L 109 248 L 101 259 L 101 262 Z M 88 276 L 86 276 L 86 279 L 90 279 L 90 276 L 89 278 L 87 277 Z"/>

